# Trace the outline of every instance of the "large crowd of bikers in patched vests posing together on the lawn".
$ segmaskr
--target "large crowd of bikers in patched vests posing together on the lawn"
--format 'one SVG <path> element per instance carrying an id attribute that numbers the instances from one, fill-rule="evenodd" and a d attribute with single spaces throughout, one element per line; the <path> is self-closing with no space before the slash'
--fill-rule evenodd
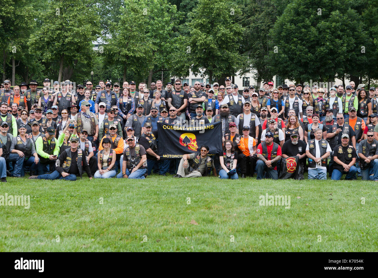
<path id="1" fill-rule="evenodd" d="M 227 77 L 193 85 L 158 80 L 74 86 L 31 80 L 0 89 L 0 173 L 29 179 L 145 179 L 214 175 L 279 179 L 297 159 L 298 179 L 378 181 L 378 88 L 264 82 L 239 90 Z M 40 88 L 41 88 L 40 87 Z M 222 124 L 222 151 L 208 145 L 177 159 L 158 155 L 158 124 Z M 170 144 L 170 142 L 163 142 Z"/>

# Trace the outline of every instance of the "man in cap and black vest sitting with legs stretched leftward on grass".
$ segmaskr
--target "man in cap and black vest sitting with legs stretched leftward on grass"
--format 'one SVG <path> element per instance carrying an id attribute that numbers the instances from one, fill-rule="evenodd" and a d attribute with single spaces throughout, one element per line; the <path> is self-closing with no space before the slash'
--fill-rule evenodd
<path id="1" fill-rule="evenodd" d="M 77 149 L 79 138 L 76 135 L 71 137 L 70 149 L 65 149 L 59 156 L 59 166 L 51 174 L 32 175 L 29 179 L 45 179 L 45 180 L 76 180 L 76 176 L 82 177 L 83 168 L 89 179 L 92 179 L 91 170 L 87 163 L 87 157 L 82 149 Z"/>

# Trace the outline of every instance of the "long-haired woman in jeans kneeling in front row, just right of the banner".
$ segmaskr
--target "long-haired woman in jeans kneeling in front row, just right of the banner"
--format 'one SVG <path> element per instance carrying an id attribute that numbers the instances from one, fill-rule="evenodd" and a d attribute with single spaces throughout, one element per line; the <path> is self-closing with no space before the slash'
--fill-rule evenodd
<path id="1" fill-rule="evenodd" d="M 219 171 L 219 177 L 221 179 L 239 179 L 236 172 L 237 164 L 237 152 L 234 150 L 232 141 L 226 140 L 223 147 L 223 151 L 219 154 L 220 166 L 222 169 Z M 228 174 L 229 172 L 235 172 L 234 174 Z"/>

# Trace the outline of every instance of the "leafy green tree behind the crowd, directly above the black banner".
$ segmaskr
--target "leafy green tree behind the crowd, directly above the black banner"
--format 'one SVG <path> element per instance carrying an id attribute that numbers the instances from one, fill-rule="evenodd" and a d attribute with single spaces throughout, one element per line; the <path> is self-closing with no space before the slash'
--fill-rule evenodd
<path id="1" fill-rule="evenodd" d="M 235 75 L 240 69 L 239 55 L 243 27 L 236 22 L 239 7 L 230 1 L 199 0 L 189 14 L 188 61 L 194 74 Z"/>

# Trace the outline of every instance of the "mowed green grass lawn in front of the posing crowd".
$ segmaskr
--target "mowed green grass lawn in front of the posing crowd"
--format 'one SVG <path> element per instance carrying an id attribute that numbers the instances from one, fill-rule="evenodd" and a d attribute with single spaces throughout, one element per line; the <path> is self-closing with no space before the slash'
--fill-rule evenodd
<path id="1" fill-rule="evenodd" d="M 31 199 L 29 209 L 0 207 L 0 251 L 376 251 L 377 186 L 159 175 L 8 178 L 0 195 Z M 290 209 L 260 206 L 266 193 L 290 196 Z"/>

